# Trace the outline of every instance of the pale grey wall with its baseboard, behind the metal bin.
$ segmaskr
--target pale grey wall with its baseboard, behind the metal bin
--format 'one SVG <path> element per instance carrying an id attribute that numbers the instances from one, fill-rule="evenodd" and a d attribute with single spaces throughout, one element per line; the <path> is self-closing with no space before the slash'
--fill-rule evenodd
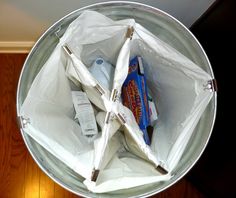
<path id="1" fill-rule="evenodd" d="M 158 7 L 191 26 L 215 0 L 135 0 Z M 0 0 L 0 52 L 27 52 L 54 22 L 99 0 Z"/>

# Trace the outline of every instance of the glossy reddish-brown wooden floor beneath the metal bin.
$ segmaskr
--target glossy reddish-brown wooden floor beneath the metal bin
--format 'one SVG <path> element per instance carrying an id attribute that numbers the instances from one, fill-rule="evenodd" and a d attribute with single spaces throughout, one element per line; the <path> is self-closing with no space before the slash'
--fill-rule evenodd
<path id="1" fill-rule="evenodd" d="M 16 88 L 25 54 L 0 54 L 0 197 L 77 197 L 47 177 L 26 149 L 16 123 Z M 186 179 L 154 196 L 204 197 Z"/>

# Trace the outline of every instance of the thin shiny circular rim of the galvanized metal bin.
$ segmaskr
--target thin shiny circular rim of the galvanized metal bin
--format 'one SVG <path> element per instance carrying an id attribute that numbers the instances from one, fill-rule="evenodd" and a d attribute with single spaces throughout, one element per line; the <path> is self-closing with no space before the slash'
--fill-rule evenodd
<path id="1" fill-rule="evenodd" d="M 60 20 L 58 20 L 57 22 L 55 22 L 51 27 L 49 27 L 44 34 L 42 34 L 42 36 L 37 40 L 37 42 L 35 43 L 35 45 L 33 46 L 33 48 L 31 49 L 30 53 L 28 54 L 26 60 L 25 60 L 25 63 L 23 65 L 23 68 L 22 68 L 22 71 L 21 71 L 21 74 L 20 74 L 20 77 L 19 77 L 19 81 L 18 81 L 18 87 L 17 87 L 17 98 L 16 98 L 16 110 L 17 110 L 17 119 L 18 119 L 18 122 L 19 122 L 19 127 L 20 127 L 20 130 L 21 130 L 21 134 L 22 134 L 22 137 L 23 137 L 23 140 L 25 142 L 25 145 L 27 146 L 27 149 L 29 150 L 31 156 L 33 157 L 33 159 L 35 160 L 35 162 L 37 163 L 37 165 L 43 170 L 44 173 L 46 173 L 53 181 L 55 181 L 56 183 L 58 183 L 59 185 L 63 186 L 65 189 L 77 194 L 77 195 L 80 195 L 80 196 L 83 196 L 83 197 L 90 197 L 88 196 L 88 194 L 86 193 L 83 193 L 82 191 L 76 191 L 75 189 L 72 189 L 69 185 L 67 185 L 66 183 L 63 183 L 56 175 L 54 175 L 53 173 L 51 173 L 46 167 L 44 167 L 41 162 L 39 161 L 39 159 L 37 158 L 36 154 L 34 153 L 34 151 L 30 148 L 29 146 L 29 142 L 28 142 L 28 139 L 27 139 L 27 135 L 26 133 L 24 132 L 24 130 L 22 129 L 22 119 L 20 117 L 20 107 L 21 107 L 21 101 L 20 101 L 20 96 L 21 96 L 21 86 L 22 86 L 22 79 L 23 79 L 23 75 L 24 75 L 24 72 L 26 70 L 26 68 L 28 67 L 27 64 L 28 64 L 28 61 L 30 60 L 31 56 L 37 52 L 37 49 L 38 49 L 38 46 L 40 45 L 41 41 L 50 33 L 50 31 L 52 31 L 53 29 L 55 29 L 55 27 L 59 26 L 61 24 L 62 21 L 64 21 L 65 19 L 69 18 L 69 17 L 72 17 L 72 16 L 76 16 L 77 13 L 81 12 L 81 11 L 84 11 L 84 10 L 88 10 L 88 9 L 94 9 L 94 8 L 102 8 L 104 6 L 107 6 L 107 7 L 113 7 L 113 6 L 123 6 L 123 7 L 129 7 L 129 8 L 135 8 L 135 9 L 142 9 L 146 12 L 149 12 L 149 13 L 154 13 L 156 15 L 163 15 L 165 16 L 166 18 L 168 18 L 169 20 L 171 20 L 173 23 L 176 23 L 178 24 L 178 26 L 180 26 L 180 28 L 182 28 L 183 31 L 185 31 L 187 34 L 189 34 L 189 36 L 192 38 L 193 42 L 195 42 L 195 44 L 199 47 L 199 49 L 202 51 L 203 53 L 203 56 L 207 62 L 207 65 L 208 65 L 208 69 L 209 69 L 209 73 L 210 75 L 212 76 L 212 78 L 214 79 L 214 74 L 213 74 L 213 70 L 212 70 L 212 67 L 211 67 L 211 64 L 208 60 L 208 57 L 204 51 L 204 49 L 202 48 L 202 46 L 200 45 L 200 43 L 198 42 L 198 40 L 195 38 L 195 36 L 188 30 L 188 28 L 186 28 L 180 21 L 178 21 L 176 18 L 174 18 L 173 16 L 171 16 L 170 14 L 158 9 L 158 8 L 155 8 L 155 7 L 152 7 L 152 6 L 149 6 L 149 5 L 146 5 L 146 4 L 142 4 L 142 3 L 137 3 L 137 2 L 129 2 L 129 1 L 112 1 L 112 2 L 102 2 L 102 3 L 96 3 L 96 4 L 92 4 L 92 5 L 89 5 L 89 6 L 86 6 L 86 7 L 82 7 L 80 9 L 77 9 L 71 13 L 69 13 L 68 15 L 64 16 L 63 18 L 61 18 Z M 79 15 L 78 15 L 79 16 Z M 206 138 L 205 140 L 205 144 L 204 146 L 201 148 L 201 151 L 197 154 L 197 157 L 192 160 L 190 163 L 188 163 L 186 165 L 186 167 L 184 168 L 184 170 L 182 170 L 181 173 L 178 174 L 178 176 L 173 176 L 175 177 L 174 180 L 172 180 L 171 182 L 169 182 L 167 185 L 164 185 L 162 186 L 161 188 L 157 188 L 157 189 L 153 189 L 152 191 L 149 191 L 149 192 L 144 192 L 143 194 L 140 194 L 140 195 L 135 195 L 135 196 L 130 196 L 130 197 L 149 197 L 149 196 L 152 196 L 156 193 L 159 193 L 165 189 L 167 189 L 168 187 L 172 186 L 173 184 L 175 184 L 177 181 L 179 181 L 185 174 L 188 173 L 188 171 L 195 165 L 195 163 L 198 161 L 198 159 L 200 158 L 200 156 L 202 155 L 203 151 L 205 150 L 205 147 L 207 146 L 207 143 L 209 141 L 209 138 L 211 136 L 211 133 L 212 133 L 212 130 L 213 130 L 213 126 L 214 126 L 214 122 L 215 122 L 215 117 L 216 117 L 216 109 L 217 109 L 217 94 L 214 93 L 214 96 L 213 96 L 213 99 L 212 99 L 212 102 L 213 102 L 213 112 L 212 112 L 212 119 L 211 119 L 211 128 L 209 130 L 209 133 L 208 133 L 208 137 Z M 90 194 L 90 193 L 89 193 Z M 90 194 L 91 195 L 91 194 Z M 92 197 L 102 197 L 102 195 L 99 195 L 99 194 L 94 194 Z M 114 195 L 115 196 L 115 195 Z M 119 196 L 118 196 L 119 197 Z"/>

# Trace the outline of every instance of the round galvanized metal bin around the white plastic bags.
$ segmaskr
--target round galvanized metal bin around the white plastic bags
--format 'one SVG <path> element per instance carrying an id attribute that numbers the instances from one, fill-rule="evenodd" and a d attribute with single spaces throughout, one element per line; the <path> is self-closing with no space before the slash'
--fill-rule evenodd
<path id="1" fill-rule="evenodd" d="M 78 9 L 52 25 L 37 41 L 29 53 L 19 79 L 17 90 L 17 114 L 34 80 L 44 65 L 68 25 L 84 10 L 98 11 L 114 20 L 134 18 L 153 34 L 187 56 L 214 78 L 209 60 L 192 33 L 169 14 L 144 4 L 132 2 L 107 2 Z M 182 178 L 196 163 L 210 138 L 216 115 L 216 94 L 204 111 L 194 135 L 180 162 L 173 171 L 173 177 L 165 182 L 139 186 L 115 192 L 95 194 L 89 192 L 83 184 L 83 178 L 57 160 L 21 128 L 25 144 L 39 167 L 55 182 L 67 190 L 83 197 L 148 197 L 170 187 Z M 21 119 L 19 117 L 19 119 Z"/>

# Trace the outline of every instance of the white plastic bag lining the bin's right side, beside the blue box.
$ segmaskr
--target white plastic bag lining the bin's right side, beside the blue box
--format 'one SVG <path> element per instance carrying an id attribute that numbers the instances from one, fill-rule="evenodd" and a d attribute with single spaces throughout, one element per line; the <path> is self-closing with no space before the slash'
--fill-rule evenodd
<path id="1" fill-rule="evenodd" d="M 212 77 L 190 59 L 136 25 L 141 38 L 131 48 L 149 67 L 147 84 L 159 112 L 151 148 L 167 170 L 173 170 L 195 126 L 213 96 L 205 85 Z"/>

